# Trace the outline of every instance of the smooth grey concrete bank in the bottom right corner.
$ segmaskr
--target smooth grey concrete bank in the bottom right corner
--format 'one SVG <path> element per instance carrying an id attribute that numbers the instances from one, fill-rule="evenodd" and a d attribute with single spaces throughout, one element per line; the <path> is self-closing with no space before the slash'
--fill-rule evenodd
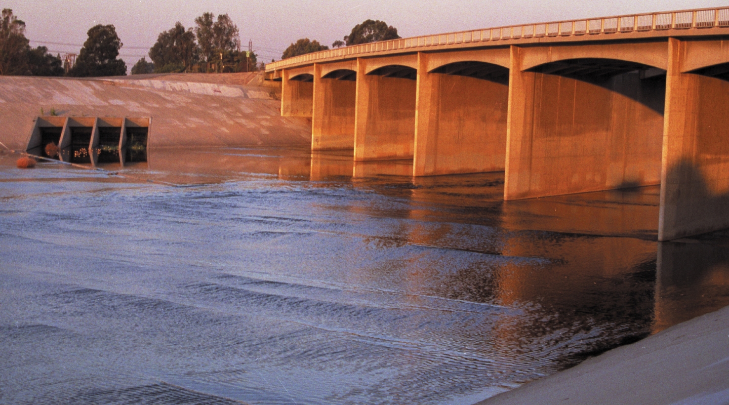
<path id="1" fill-rule="evenodd" d="M 476 405 L 729 404 L 729 307 Z"/>

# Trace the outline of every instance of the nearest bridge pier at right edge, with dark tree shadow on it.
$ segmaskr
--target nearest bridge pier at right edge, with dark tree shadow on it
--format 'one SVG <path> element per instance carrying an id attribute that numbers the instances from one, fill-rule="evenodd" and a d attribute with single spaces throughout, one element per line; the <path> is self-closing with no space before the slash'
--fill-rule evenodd
<path id="1" fill-rule="evenodd" d="M 729 227 L 728 72 L 729 41 L 668 39 L 659 240 Z"/>

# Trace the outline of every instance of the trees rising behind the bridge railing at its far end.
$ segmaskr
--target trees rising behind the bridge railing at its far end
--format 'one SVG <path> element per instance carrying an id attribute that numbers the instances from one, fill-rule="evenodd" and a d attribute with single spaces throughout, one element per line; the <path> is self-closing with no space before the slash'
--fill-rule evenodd
<path id="1" fill-rule="evenodd" d="M 388 41 L 390 39 L 399 39 L 397 28 L 387 25 L 380 20 L 364 20 L 362 24 L 354 25 L 349 35 L 344 36 L 344 40 L 337 40 L 332 43 L 332 48 L 348 47 L 351 45 L 368 44 L 370 42 Z M 319 41 L 310 40 L 308 38 L 299 39 L 297 42 L 289 45 L 284 50 L 281 59 L 293 58 L 294 56 L 304 55 L 311 52 L 319 52 L 328 50 L 327 45 L 322 45 Z"/>

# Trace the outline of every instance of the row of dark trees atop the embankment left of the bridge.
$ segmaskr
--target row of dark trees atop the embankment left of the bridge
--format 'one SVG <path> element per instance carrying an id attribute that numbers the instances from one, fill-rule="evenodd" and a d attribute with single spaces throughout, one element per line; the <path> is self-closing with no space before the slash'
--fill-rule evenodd
<path id="1" fill-rule="evenodd" d="M 25 36 L 26 23 L 3 9 L 0 20 L 0 75 L 16 76 L 125 76 L 127 67 L 119 57 L 124 45 L 114 25 L 94 25 L 79 51 L 76 63 L 64 67 L 61 55 L 47 47 L 30 46 Z M 131 74 L 176 73 L 182 71 L 255 70 L 254 52 L 241 52 L 238 26 L 227 14 L 203 13 L 195 18 L 194 28 L 176 23 L 157 36 L 149 49 L 149 59 L 141 58 Z M 202 66 L 204 63 L 204 66 Z"/>

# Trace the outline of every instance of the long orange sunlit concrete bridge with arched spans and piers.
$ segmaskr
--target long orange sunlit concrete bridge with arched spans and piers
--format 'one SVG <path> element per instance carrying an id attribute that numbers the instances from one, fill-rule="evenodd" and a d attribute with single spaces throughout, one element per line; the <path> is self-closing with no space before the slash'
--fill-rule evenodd
<path id="1" fill-rule="evenodd" d="M 505 170 L 505 200 L 660 184 L 659 240 L 729 227 L 729 7 L 395 39 L 266 74 L 313 150 Z"/>

